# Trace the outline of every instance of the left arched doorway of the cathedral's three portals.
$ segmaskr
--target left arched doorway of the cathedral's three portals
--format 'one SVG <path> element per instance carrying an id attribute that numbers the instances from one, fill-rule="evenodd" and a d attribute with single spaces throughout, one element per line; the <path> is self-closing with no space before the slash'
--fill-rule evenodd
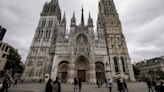
<path id="1" fill-rule="evenodd" d="M 58 77 L 59 79 L 61 79 L 62 82 L 66 82 L 67 74 L 68 74 L 68 62 L 62 61 L 58 65 Z"/>

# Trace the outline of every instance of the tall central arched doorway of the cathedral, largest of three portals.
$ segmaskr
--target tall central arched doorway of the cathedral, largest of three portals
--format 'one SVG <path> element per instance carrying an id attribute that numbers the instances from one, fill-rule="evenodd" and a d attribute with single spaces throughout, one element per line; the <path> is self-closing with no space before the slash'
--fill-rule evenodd
<path id="1" fill-rule="evenodd" d="M 75 61 L 76 76 L 81 78 L 82 82 L 89 79 L 89 61 L 86 57 L 80 56 Z"/>

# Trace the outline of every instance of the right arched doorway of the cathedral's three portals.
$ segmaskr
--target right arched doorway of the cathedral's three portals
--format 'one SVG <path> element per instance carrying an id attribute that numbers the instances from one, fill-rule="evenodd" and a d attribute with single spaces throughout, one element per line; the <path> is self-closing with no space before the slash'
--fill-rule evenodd
<path id="1" fill-rule="evenodd" d="M 104 64 L 101 62 L 96 63 L 96 79 L 97 80 L 105 80 Z"/>

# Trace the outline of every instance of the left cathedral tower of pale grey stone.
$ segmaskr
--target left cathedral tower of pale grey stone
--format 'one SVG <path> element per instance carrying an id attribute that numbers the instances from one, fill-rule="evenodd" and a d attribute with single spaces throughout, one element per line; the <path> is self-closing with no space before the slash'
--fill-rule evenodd
<path id="1" fill-rule="evenodd" d="M 24 79 L 42 79 L 51 73 L 60 21 L 58 0 L 46 2 L 26 59 Z"/>

